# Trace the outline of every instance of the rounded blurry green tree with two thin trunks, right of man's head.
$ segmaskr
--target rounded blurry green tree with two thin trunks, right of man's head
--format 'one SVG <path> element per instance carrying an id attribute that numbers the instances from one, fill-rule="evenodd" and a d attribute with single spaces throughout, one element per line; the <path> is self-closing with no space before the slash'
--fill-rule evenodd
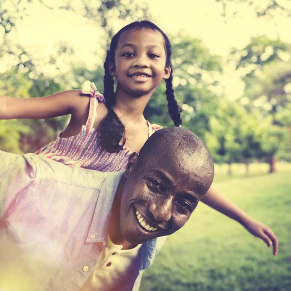
<path id="1" fill-rule="evenodd" d="M 247 114 L 238 102 L 221 100 L 215 116 L 210 117 L 207 145 L 215 162 L 229 165 L 229 175 L 233 162 L 244 162 L 248 175 L 249 162 L 257 158 L 260 150 L 257 114 Z"/>

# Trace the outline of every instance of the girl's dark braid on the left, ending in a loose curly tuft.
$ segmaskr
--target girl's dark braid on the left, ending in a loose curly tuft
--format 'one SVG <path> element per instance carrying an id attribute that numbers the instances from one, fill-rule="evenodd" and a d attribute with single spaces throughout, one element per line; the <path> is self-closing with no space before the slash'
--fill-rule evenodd
<path id="1" fill-rule="evenodd" d="M 115 104 L 114 80 L 109 73 L 110 52 L 107 51 L 104 63 L 104 98 L 108 109 L 107 115 L 99 124 L 100 145 L 108 152 L 114 153 L 122 150 L 125 144 L 125 127 L 113 110 Z M 122 144 L 119 145 L 119 142 Z"/>

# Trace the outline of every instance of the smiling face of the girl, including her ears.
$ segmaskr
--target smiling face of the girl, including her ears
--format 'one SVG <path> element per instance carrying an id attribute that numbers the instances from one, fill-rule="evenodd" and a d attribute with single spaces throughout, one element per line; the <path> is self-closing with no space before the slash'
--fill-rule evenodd
<path id="1" fill-rule="evenodd" d="M 152 94 L 163 79 L 170 77 L 161 32 L 152 29 L 125 31 L 115 50 L 115 64 L 110 74 L 117 77 L 117 90 L 130 96 Z"/>

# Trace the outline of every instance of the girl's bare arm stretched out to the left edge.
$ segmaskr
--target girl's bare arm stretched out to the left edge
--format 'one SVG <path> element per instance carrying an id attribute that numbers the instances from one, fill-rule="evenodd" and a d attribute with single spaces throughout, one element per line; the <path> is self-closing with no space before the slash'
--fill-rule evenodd
<path id="1" fill-rule="evenodd" d="M 0 119 L 41 119 L 73 113 L 81 102 L 80 96 L 80 90 L 68 90 L 38 98 L 0 96 Z"/>

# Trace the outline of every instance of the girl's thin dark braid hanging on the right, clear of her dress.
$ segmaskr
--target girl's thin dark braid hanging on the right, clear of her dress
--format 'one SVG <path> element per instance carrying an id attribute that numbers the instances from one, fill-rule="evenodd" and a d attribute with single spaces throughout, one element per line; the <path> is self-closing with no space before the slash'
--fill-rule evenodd
<path id="1" fill-rule="evenodd" d="M 165 81 L 166 81 L 166 97 L 168 101 L 168 111 L 172 120 L 174 121 L 174 124 L 179 127 L 182 124 L 182 118 L 180 114 L 182 112 L 182 109 L 178 105 L 177 100 L 175 99 L 175 95 L 174 95 L 174 89 L 173 89 L 173 83 L 172 83 L 173 81 L 172 65 L 171 65 L 170 77 L 169 79 L 166 79 Z"/>

